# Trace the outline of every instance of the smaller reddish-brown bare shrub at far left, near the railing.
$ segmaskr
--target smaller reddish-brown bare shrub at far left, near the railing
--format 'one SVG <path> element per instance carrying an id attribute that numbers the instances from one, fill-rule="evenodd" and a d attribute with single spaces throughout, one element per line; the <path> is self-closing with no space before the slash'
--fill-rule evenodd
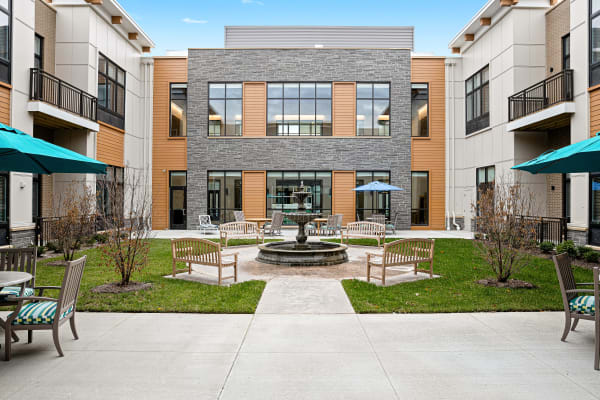
<path id="1" fill-rule="evenodd" d="M 53 221 L 52 236 L 63 252 L 65 261 L 73 261 L 86 236 L 94 232 L 94 194 L 86 184 L 71 183 L 58 197 L 59 218 Z"/>

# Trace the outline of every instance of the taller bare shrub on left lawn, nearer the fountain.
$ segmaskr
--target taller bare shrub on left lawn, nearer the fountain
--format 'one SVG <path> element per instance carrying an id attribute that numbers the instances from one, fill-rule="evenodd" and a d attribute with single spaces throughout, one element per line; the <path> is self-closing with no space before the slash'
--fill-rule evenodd
<path id="1" fill-rule="evenodd" d="M 151 200 L 142 173 L 127 169 L 124 176 L 98 180 L 98 211 L 107 241 L 101 247 L 103 262 L 127 286 L 131 276 L 148 262 Z"/>

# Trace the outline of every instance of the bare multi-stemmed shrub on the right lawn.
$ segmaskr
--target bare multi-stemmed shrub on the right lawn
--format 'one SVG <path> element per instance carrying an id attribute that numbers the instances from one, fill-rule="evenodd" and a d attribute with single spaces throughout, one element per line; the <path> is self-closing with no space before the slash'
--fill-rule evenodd
<path id="1" fill-rule="evenodd" d="M 533 193 L 520 183 L 499 179 L 491 186 L 478 188 L 473 205 L 476 214 L 476 241 L 482 258 L 490 265 L 498 282 L 506 282 L 527 265 L 527 253 L 535 243 L 536 222 Z"/>

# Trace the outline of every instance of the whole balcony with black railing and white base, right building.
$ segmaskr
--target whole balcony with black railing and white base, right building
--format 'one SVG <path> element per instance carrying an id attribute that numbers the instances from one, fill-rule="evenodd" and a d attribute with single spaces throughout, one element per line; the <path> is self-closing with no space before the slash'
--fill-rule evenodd
<path id="1" fill-rule="evenodd" d="M 508 131 L 539 131 L 566 126 L 575 112 L 573 70 L 552 75 L 508 98 Z"/>

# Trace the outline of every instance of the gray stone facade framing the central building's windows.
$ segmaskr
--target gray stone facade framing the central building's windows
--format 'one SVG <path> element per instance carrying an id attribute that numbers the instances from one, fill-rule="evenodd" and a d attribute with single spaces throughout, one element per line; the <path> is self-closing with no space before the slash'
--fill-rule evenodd
<path id="1" fill-rule="evenodd" d="M 410 51 L 404 49 L 190 49 L 188 228 L 207 212 L 210 170 L 390 171 L 391 213 L 410 228 Z M 389 82 L 389 137 L 208 137 L 209 82 Z"/>

